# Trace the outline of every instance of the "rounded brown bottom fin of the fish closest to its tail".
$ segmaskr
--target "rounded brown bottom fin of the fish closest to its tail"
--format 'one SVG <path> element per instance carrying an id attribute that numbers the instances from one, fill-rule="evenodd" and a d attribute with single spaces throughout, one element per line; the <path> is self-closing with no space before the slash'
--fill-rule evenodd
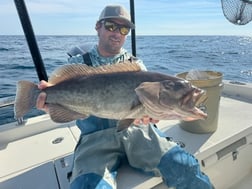
<path id="1" fill-rule="evenodd" d="M 48 104 L 51 119 L 56 123 L 66 123 L 76 119 L 83 119 L 88 115 L 67 109 L 58 104 Z"/>

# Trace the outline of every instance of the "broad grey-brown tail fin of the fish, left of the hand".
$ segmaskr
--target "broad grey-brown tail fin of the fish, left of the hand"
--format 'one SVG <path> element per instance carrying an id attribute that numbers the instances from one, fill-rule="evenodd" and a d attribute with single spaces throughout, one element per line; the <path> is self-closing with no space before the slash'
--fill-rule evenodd
<path id="1" fill-rule="evenodd" d="M 36 106 L 39 89 L 36 84 L 30 81 L 19 81 L 16 90 L 14 114 L 15 118 L 18 119 Z"/>

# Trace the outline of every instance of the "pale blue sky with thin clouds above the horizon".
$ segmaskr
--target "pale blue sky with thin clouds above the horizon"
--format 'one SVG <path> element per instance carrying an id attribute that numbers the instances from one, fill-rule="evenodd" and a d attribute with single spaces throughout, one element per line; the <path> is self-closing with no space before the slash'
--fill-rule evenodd
<path id="1" fill-rule="evenodd" d="M 25 0 L 37 35 L 96 35 L 108 4 L 129 9 L 128 0 Z M 230 23 L 221 0 L 135 0 L 137 35 L 249 35 L 252 22 Z M 0 1 L 0 35 L 23 35 L 13 0 Z"/>

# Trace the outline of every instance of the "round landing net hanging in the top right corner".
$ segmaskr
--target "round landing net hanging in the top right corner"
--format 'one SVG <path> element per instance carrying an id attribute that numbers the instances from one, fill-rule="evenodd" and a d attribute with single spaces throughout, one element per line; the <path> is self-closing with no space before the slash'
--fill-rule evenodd
<path id="1" fill-rule="evenodd" d="M 221 0 L 224 16 L 233 24 L 245 25 L 252 20 L 252 0 Z"/>

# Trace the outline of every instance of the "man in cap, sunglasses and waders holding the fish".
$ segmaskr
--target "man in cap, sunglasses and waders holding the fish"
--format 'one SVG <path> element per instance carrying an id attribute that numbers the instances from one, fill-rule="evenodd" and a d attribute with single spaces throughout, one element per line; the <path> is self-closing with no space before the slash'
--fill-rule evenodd
<path id="1" fill-rule="evenodd" d="M 96 23 L 99 42 L 85 55 L 71 57 L 71 63 L 90 66 L 116 64 L 132 58 L 122 48 L 130 29 L 130 15 L 121 6 L 106 6 Z M 137 60 L 143 70 L 142 61 Z M 49 86 L 41 82 L 39 88 Z M 46 94 L 41 93 L 37 107 L 46 107 Z M 209 178 L 201 173 L 197 160 L 176 143 L 159 135 L 148 116 L 117 131 L 116 120 L 90 116 L 77 120 L 81 136 L 74 153 L 70 178 L 71 189 L 116 188 L 119 164 L 126 158 L 132 167 L 162 176 L 169 187 L 176 189 L 211 189 Z"/>

